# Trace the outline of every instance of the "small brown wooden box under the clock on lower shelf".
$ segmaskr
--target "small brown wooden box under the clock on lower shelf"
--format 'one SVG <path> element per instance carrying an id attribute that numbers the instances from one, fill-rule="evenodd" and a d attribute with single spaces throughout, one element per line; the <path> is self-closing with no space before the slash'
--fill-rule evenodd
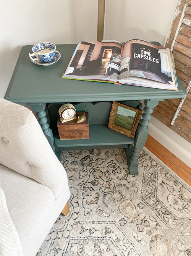
<path id="1" fill-rule="evenodd" d="M 76 116 L 83 114 L 84 112 L 76 112 Z M 62 124 L 58 115 L 57 127 L 60 140 L 89 139 L 88 112 L 86 112 L 85 116 L 86 120 L 83 123 L 76 123 L 77 119 L 74 119 Z"/>

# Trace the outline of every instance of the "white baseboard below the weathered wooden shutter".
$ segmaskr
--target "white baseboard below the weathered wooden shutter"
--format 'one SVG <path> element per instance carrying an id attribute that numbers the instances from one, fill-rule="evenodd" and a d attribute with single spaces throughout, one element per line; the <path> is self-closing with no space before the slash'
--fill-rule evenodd
<path id="1" fill-rule="evenodd" d="M 191 143 L 153 116 L 149 124 L 149 135 L 191 168 Z"/>

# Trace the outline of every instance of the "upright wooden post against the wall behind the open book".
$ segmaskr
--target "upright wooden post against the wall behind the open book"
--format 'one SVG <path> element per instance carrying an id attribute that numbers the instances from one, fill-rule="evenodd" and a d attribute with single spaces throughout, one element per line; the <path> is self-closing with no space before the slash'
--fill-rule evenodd
<path id="1" fill-rule="evenodd" d="M 105 0 L 98 0 L 97 41 L 104 40 Z"/>

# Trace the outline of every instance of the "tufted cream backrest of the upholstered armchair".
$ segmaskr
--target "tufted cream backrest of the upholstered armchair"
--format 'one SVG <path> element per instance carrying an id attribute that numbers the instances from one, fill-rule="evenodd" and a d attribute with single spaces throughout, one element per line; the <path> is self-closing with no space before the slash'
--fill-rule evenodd
<path id="1" fill-rule="evenodd" d="M 56 198 L 67 182 L 34 114 L 1 98 L 0 164 L 49 187 Z"/>

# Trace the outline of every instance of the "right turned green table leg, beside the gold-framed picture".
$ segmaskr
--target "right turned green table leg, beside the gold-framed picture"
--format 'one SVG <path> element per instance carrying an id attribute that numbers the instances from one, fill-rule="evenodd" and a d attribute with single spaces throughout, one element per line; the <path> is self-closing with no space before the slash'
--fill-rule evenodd
<path id="1" fill-rule="evenodd" d="M 163 101 L 163 99 L 161 100 Z M 142 119 L 139 122 L 139 125 L 136 130 L 134 147 L 131 153 L 131 156 L 128 158 L 128 168 L 130 175 L 137 175 L 138 171 L 138 159 L 139 154 L 144 147 L 145 142 L 147 140 L 147 136 L 149 134 L 149 120 L 151 119 L 151 114 L 153 112 L 153 108 L 158 105 L 159 101 L 155 100 L 145 100 L 145 107 L 143 109 L 144 113 L 142 114 Z"/>

